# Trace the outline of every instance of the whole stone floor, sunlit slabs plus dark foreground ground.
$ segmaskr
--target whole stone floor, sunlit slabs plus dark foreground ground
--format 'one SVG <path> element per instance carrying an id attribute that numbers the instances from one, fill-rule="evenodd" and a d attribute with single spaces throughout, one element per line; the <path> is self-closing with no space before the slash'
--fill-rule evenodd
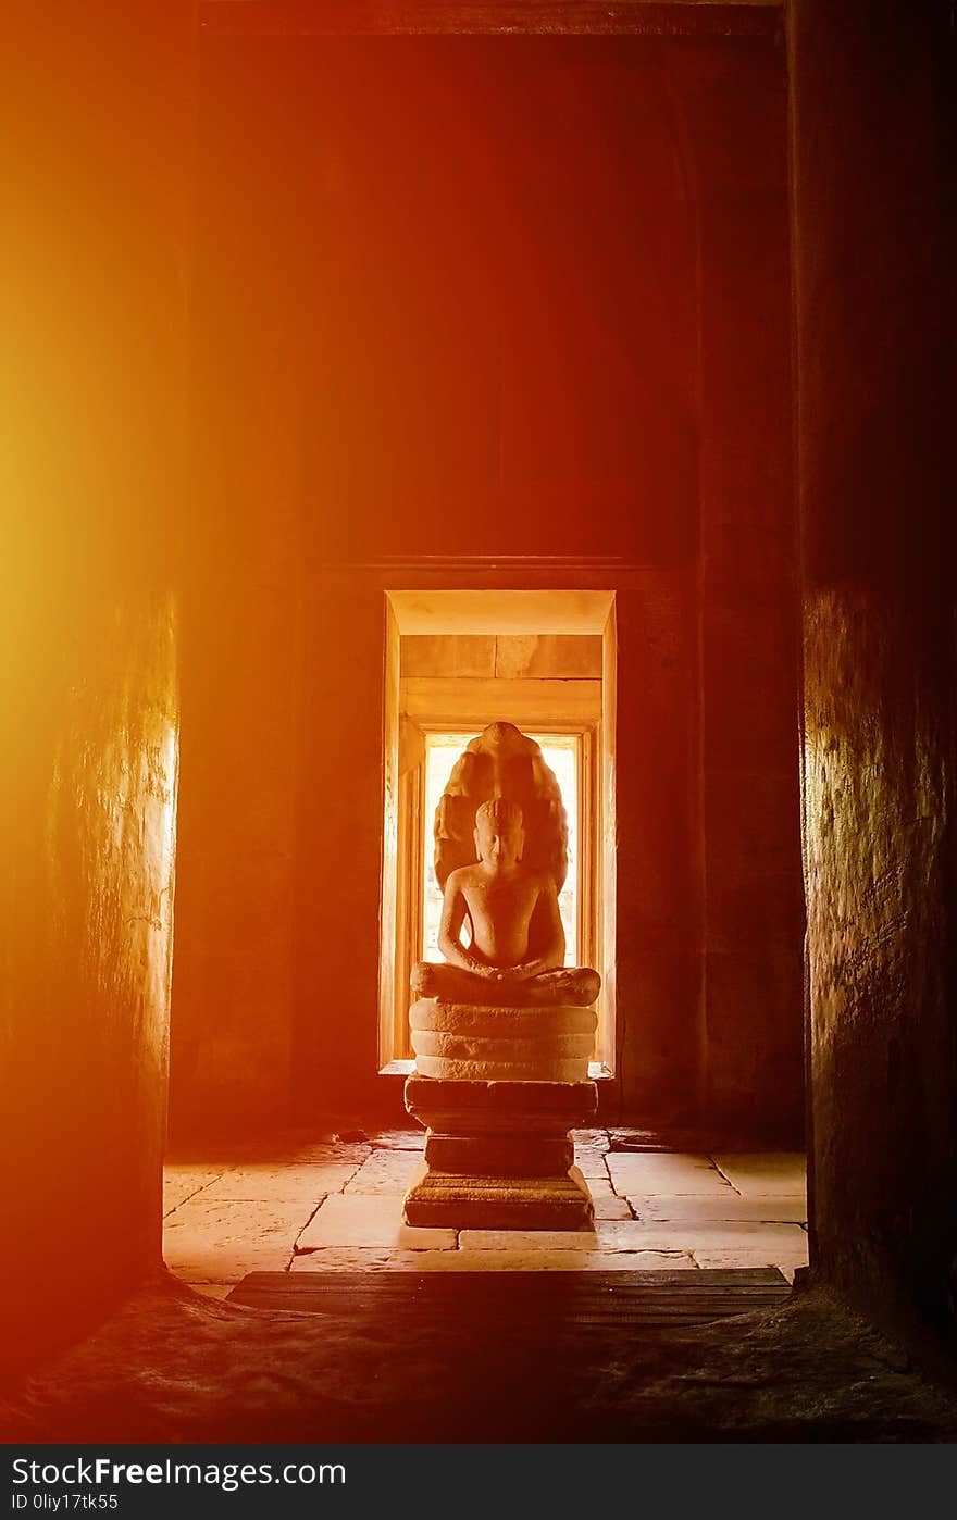
<path id="1" fill-rule="evenodd" d="M 803 1280 L 770 1309 L 657 1327 L 571 1322 L 549 1292 L 520 1324 L 479 1321 L 482 1289 L 496 1298 L 488 1277 L 435 1281 L 452 1310 L 441 1315 L 397 1316 L 394 1290 L 373 1289 L 373 1274 L 396 1269 L 790 1275 L 803 1263 L 799 1155 L 703 1154 L 691 1137 L 663 1146 L 624 1129 L 577 1140 L 593 1236 L 406 1231 L 402 1193 L 421 1134 L 285 1134 L 243 1154 L 172 1158 L 175 1275 L 151 1275 L 88 1336 L 0 1391 L 0 1430 L 87 1444 L 957 1441 L 952 1388 Z M 248 1271 L 356 1266 L 370 1269 L 362 1304 L 335 1290 L 312 1295 L 324 1301 L 310 1312 L 218 1301 Z"/>

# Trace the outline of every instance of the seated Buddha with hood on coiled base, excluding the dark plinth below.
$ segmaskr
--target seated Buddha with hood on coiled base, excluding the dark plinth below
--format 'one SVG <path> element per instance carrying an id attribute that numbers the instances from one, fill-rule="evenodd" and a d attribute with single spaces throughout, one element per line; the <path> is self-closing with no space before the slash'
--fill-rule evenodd
<path id="1" fill-rule="evenodd" d="M 564 965 L 568 827 L 540 746 L 513 724 L 485 728 L 452 772 L 435 834 L 444 962 L 412 968 L 417 1072 L 586 1081 L 601 977 Z"/>

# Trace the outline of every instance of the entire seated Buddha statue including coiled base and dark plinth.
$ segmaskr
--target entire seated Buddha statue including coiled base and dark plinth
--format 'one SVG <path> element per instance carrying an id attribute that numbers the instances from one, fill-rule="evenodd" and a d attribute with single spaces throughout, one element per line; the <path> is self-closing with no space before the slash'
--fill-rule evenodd
<path id="1" fill-rule="evenodd" d="M 598 1113 L 589 1059 L 601 979 L 564 965 L 566 872 L 561 792 L 540 746 L 490 724 L 435 816 L 444 961 L 420 961 L 411 977 L 405 1105 L 426 1145 L 406 1224 L 593 1228 L 569 1131 Z"/>

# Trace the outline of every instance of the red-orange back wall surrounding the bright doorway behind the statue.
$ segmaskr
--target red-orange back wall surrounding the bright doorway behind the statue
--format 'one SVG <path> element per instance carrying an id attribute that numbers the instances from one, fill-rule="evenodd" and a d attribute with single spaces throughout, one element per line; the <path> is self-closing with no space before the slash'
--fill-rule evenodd
<path id="1" fill-rule="evenodd" d="M 781 44 L 210 36 L 199 96 L 176 1125 L 400 1111 L 383 591 L 598 587 L 609 1114 L 794 1135 Z"/>

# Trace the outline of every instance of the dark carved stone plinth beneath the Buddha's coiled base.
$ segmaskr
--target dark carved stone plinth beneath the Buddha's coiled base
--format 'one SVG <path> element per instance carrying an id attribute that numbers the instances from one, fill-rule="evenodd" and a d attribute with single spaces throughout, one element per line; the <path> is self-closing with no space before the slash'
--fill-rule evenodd
<path id="1" fill-rule="evenodd" d="M 581 1009 L 578 1009 L 581 1012 Z M 569 1129 L 598 1111 L 595 1082 L 409 1076 L 405 1107 L 426 1126 L 424 1167 L 405 1198 L 411 1225 L 590 1230 Z"/>

